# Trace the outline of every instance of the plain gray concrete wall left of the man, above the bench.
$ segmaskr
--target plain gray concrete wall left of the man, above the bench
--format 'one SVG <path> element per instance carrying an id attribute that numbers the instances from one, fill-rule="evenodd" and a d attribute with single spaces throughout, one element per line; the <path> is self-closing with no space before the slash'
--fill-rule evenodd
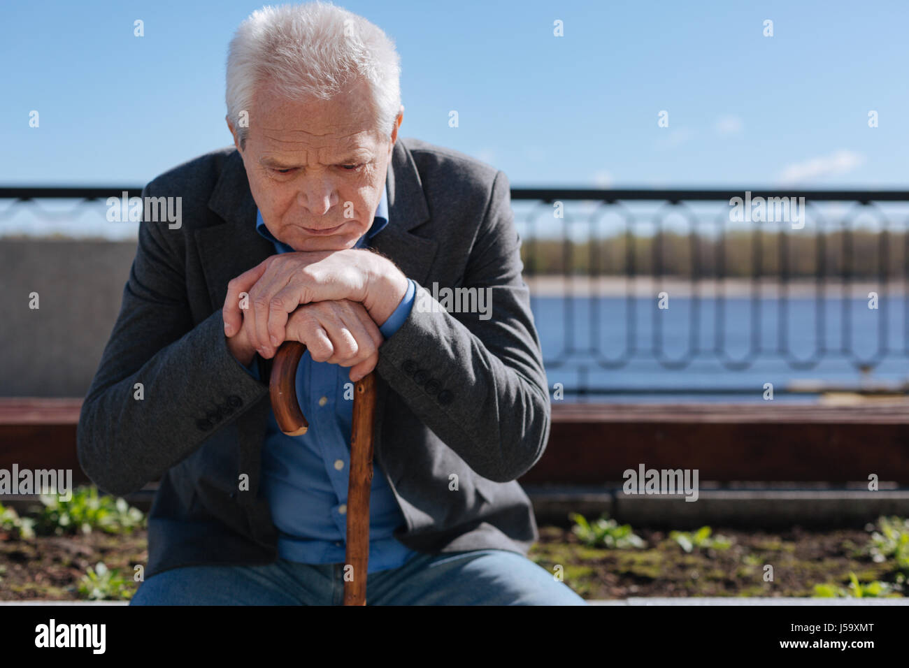
<path id="1" fill-rule="evenodd" d="M 134 256 L 135 241 L 0 240 L 0 396 L 85 396 Z"/>

